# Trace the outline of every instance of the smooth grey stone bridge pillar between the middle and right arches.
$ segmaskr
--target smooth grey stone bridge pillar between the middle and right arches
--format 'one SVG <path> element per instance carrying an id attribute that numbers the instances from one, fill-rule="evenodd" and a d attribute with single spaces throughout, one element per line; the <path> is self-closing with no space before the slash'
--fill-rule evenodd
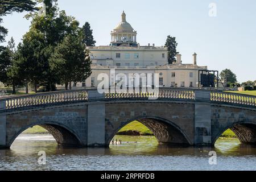
<path id="1" fill-rule="evenodd" d="M 210 92 L 196 90 L 195 101 L 195 145 L 210 146 L 212 144 Z"/>

